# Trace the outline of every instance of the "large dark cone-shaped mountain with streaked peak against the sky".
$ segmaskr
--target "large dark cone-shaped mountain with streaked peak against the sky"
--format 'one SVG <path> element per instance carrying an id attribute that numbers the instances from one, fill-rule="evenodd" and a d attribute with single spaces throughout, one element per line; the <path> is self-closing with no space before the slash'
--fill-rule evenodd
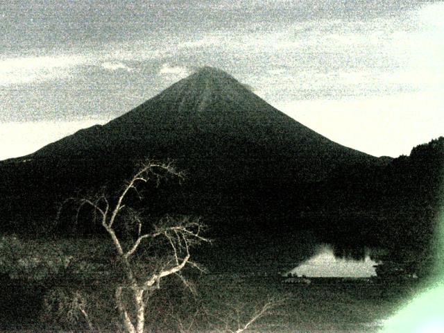
<path id="1" fill-rule="evenodd" d="M 2 162 L 0 191 L 14 198 L 1 207 L 3 225 L 48 223 L 57 202 L 77 191 L 115 188 L 145 158 L 174 160 L 187 174 L 180 189 L 156 192 L 162 200 L 150 204 L 160 212 L 229 212 L 259 230 L 276 219 L 293 223 L 316 196 L 309 184 L 334 170 L 380 164 L 291 119 L 224 71 L 203 67 L 103 126 Z"/>

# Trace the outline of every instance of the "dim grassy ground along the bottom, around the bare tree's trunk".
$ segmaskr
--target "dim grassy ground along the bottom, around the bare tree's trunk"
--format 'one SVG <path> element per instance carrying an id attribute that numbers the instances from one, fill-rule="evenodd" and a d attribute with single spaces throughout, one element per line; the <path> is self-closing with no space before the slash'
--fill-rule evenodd
<path id="1" fill-rule="evenodd" d="M 116 309 L 112 302 L 106 302 L 112 291 L 106 284 L 83 282 L 50 288 L 16 281 L 2 285 L 1 330 L 87 331 L 81 314 L 74 312 L 69 318 L 67 309 L 58 307 L 60 296 L 81 291 L 91 320 L 102 330 L 117 332 Z M 384 319 L 418 287 L 413 281 L 341 279 L 289 285 L 277 276 L 230 274 L 200 276 L 195 286 L 198 293 L 193 295 L 177 280 L 166 284 L 165 291 L 149 302 L 146 332 L 235 331 L 238 321 L 247 323 L 266 302 L 274 300 L 283 302 L 275 303 L 246 332 L 377 332 Z M 51 296 L 56 294 L 59 298 L 51 303 Z"/>

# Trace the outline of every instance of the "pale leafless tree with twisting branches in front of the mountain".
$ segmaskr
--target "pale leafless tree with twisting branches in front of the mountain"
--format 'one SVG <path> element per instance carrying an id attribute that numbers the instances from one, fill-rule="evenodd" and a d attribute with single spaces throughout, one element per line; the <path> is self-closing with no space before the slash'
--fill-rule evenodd
<path id="1" fill-rule="evenodd" d="M 114 287 L 114 302 L 127 333 L 144 332 L 147 300 L 160 289 L 162 279 L 177 275 L 191 287 L 181 271 L 185 266 L 200 267 L 191 262 L 189 250 L 209 241 L 203 237 L 205 225 L 198 219 L 167 216 L 159 223 L 148 225 L 144 216 L 130 207 L 131 203 L 142 200 L 146 183 L 159 185 L 161 178 L 169 175 L 183 177 L 171 163 L 145 162 L 114 198 L 102 192 L 65 200 L 65 203 L 69 200 L 76 202 L 76 220 L 83 207 L 92 209 L 94 219 L 99 221 L 111 240 L 123 273 L 121 283 Z M 88 318 L 86 313 L 83 316 Z M 92 327 L 89 321 L 88 325 Z"/>

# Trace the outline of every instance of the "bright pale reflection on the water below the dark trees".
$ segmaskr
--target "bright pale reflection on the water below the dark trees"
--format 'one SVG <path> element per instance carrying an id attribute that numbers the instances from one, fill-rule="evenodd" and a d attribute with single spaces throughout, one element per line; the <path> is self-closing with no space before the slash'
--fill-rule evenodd
<path id="1" fill-rule="evenodd" d="M 302 262 L 289 273 L 322 278 L 370 278 L 375 276 L 374 262 L 368 253 L 364 255 L 338 255 L 332 246 L 320 246 L 314 257 Z M 349 252 L 348 252 L 349 253 Z M 359 257 L 359 259 L 356 259 Z"/>

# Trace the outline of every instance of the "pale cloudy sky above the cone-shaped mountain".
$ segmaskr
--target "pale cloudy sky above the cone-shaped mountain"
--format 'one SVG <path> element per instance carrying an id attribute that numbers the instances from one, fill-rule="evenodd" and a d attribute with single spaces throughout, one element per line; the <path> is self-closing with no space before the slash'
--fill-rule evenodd
<path id="1" fill-rule="evenodd" d="M 444 2 L 0 1 L 0 160 L 218 67 L 371 155 L 444 135 Z"/>

